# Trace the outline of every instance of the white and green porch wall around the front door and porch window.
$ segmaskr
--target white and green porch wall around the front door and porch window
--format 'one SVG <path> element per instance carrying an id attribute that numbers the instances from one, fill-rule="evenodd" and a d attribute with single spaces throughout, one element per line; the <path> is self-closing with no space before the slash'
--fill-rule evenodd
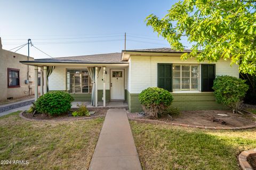
<path id="1" fill-rule="evenodd" d="M 61 90 L 66 91 L 67 84 L 67 71 L 68 69 L 86 69 L 85 66 L 55 66 L 52 74 L 49 77 L 49 90 Z M 127 67 L 106 67 L 106 101 L 110 100 L 110 69 L 124 69 L 124 85 L 125 85 L 125 96 L 127 89 Z M 71 94 L 75 101 L 91 101 L 91 94 Z M 102 101 L 103 97 L 103 67 L 101 67 L 98 77 L 98 101 Z M 126 98 L 126 97 L 125 97 Z"/>

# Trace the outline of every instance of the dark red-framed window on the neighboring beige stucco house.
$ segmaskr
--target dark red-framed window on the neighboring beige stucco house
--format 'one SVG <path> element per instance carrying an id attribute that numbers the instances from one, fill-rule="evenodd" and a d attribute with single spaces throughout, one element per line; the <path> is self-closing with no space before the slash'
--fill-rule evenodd
<path id="1" fill-rule="evenodd" d="M 8 80 L 7 80 L 8 88 L 20 87 L 20 70 L 8 68 L 7 74 L 8 74 Z"/>

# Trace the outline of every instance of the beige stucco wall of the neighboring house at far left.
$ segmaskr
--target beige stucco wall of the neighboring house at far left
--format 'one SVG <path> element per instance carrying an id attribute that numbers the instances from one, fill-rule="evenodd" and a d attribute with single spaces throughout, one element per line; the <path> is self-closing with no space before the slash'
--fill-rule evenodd
<path id="1" fill-rule="evenodd" d="M 25 84 L 25 80 L 27 80 L 27 65 L 20 63 L 20 61 L 26 61 L 27 58 L 25 55 L 0 48 L 0 101 L 11 97 L 20 98 L 29 95 L 29 84 Z M 29 57 L 29 60 L 34 60 L 34 58 Z M 19 69 L 20 87 L 8 88 L 8 68 Z M 34 66 L 29 66 L 29 75 L 31 76 L 30 81 L 34 82 Z M 34 94 L 34 83 L 32 83 L 31 94 Z"/>

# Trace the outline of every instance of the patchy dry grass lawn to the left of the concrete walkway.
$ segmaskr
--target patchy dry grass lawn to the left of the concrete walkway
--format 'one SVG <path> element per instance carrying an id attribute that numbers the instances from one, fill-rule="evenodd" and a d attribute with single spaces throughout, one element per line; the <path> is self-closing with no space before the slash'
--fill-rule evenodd
<path id="1" fill-rule="evenodd" d="M 103 118 L 36 122 L 19 112 L 0 117 L 0 160 L 28 160 L 28 165 L 0 169 L 87 169 Z"/>

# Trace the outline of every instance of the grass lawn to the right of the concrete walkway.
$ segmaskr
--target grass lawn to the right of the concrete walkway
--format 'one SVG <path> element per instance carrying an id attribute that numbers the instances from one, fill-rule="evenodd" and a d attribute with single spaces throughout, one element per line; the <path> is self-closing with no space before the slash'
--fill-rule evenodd
<path id="1" fill-rule="evenodd" d="M 256 130 L 222 131 L 131 121 L 143 169 L 239 169 L 237 155 L 256 148 Z"/>

